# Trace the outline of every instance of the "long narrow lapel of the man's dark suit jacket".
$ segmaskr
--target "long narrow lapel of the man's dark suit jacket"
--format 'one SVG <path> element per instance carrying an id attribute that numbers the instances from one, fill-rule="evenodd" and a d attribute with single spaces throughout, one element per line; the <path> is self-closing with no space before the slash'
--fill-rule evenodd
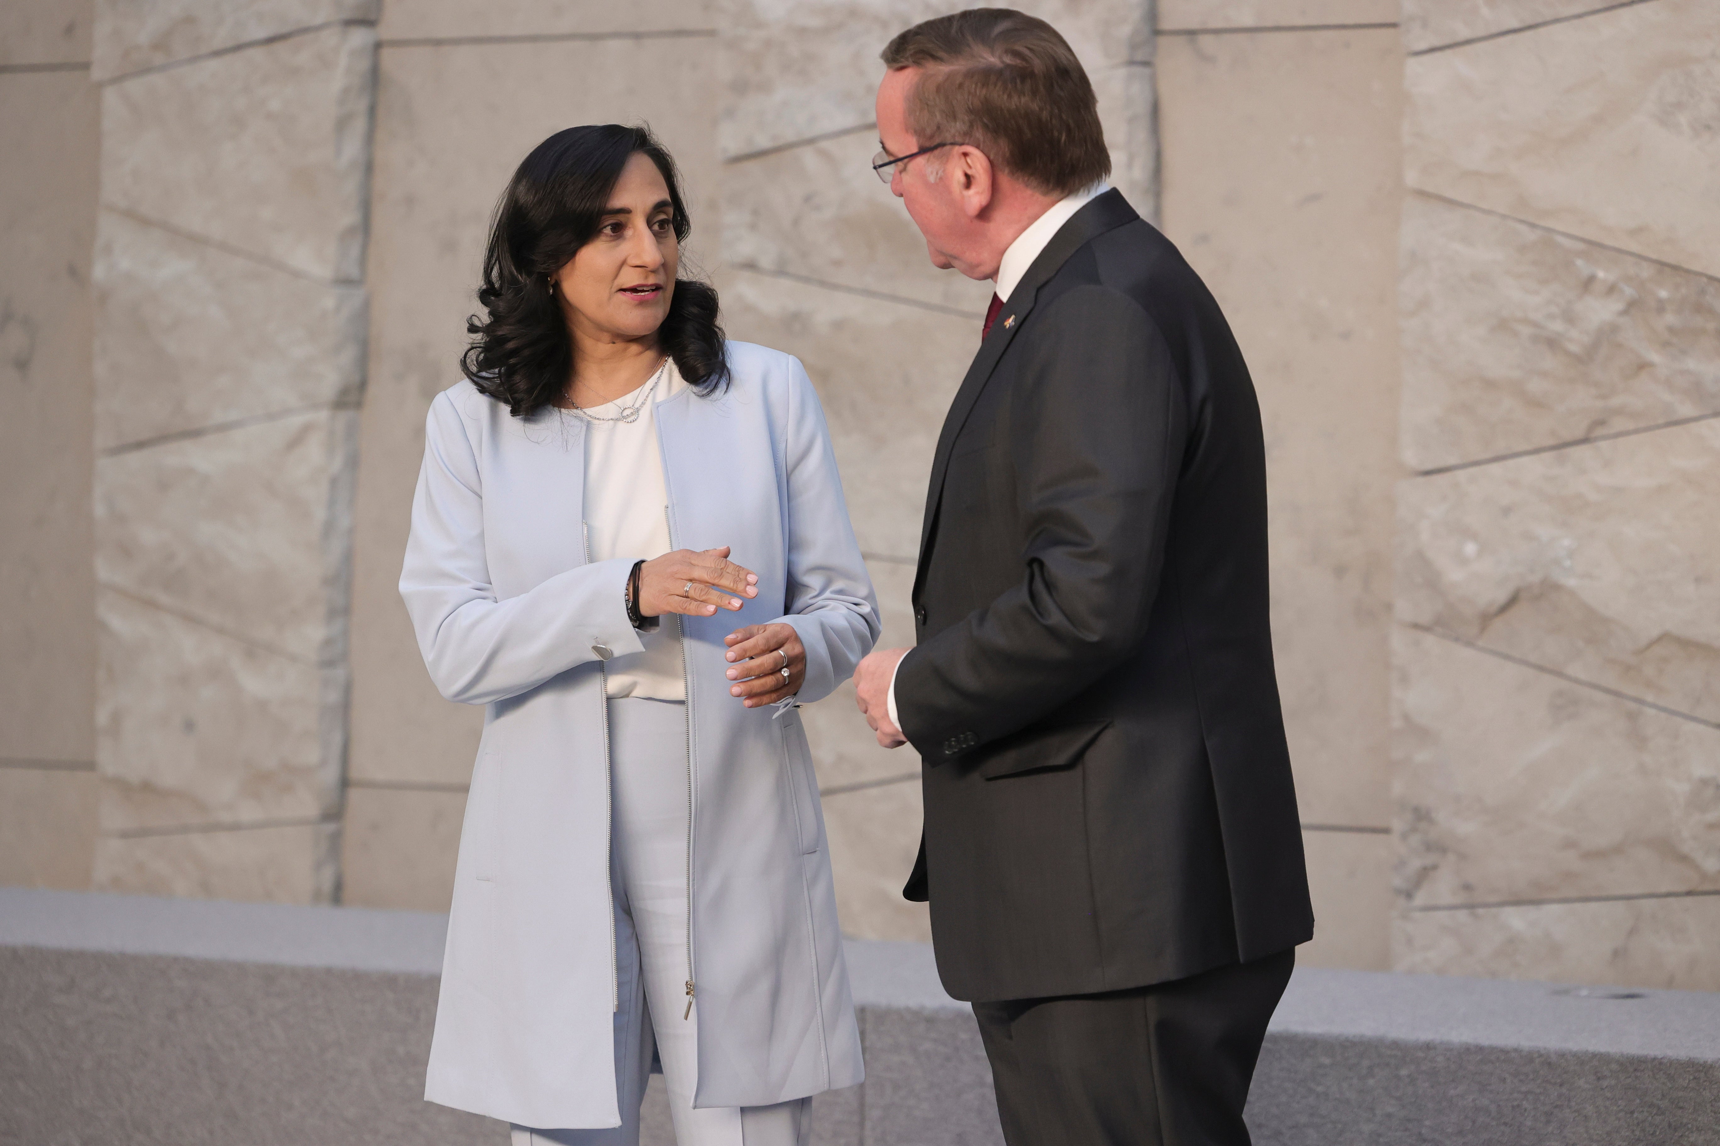
<path id="1" fill-rule="evenodd" d="M 1053 275 L 1068 261 L 1075 251 L 1090 242 L 1092 239 L 1103 235 L 1108 230 L 1121 227 L 1140 218 L 1135 210 L 1128 206 L 1128 201 L 1116 189 L 1106 191 L 1103 196 L 1092 199 L 1075 211 L 1058 234 L 1051 237 L 1046 249 L 1039 253 L 1034 265 L 1027 268 L 1022 282 L 1017 283 L 1015 290 L 1010 292 L 1010 301 L 1003 304 L 998 311 L 998 320 L 991 326 L 991 333 L 980 342 L 979 354 L 974 356 L 968 373 L 961 378 L 961 388 L 956 390 L 955 400 L 949 404 L 949 414 L 944 418 L 944 428 L 937 435 L 937 452 L 932 454 L 932 479 L 925 491 L 925 517 L 920 522 L 920 557 L 918 567 L 913 574 L 913 601 L 920 600 L 920 588 L 925 582 L 925 564 L 931 557 L 932 529 L 937 524 L 937 509 L 944 497 L 944 474 L 949 471 L 949 450 L 955 447 L 956 435 L 961 433 L 961 426 L 967 424 L 968 414 L 974 412 L 974 404 L 979 402 L 979 395 L 986 392 L 986 383 L 991 381 L 992 373 L 998 369 L 998 363 L 1003 359 L 1004 351 L 1015 340 L 1015 335 L 1025 325 L 1027 314 L 1034 309 L 1034 299 L 1039 289 L 1051 280 Z"/>

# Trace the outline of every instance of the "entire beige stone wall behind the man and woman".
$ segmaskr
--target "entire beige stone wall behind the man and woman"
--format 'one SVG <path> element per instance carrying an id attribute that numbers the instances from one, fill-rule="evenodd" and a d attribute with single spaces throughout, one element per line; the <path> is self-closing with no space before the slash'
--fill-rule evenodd
<path id="1" fill-rule="evenodd" d="M 877 52 L 955 7 L 7 5 L 0 881 L 445 907 L 482 711 L 396 579 L 490 210 L 569 124 L 679 158 L 912 641 L 987 287 L 865 165 Z M 1023 7 L 1259 387 L 1304 962 L 1720 988 L 1713 5 Z M 807 722 L 845 926 L 925 938 L 918 761 L 848 687 Z"/>

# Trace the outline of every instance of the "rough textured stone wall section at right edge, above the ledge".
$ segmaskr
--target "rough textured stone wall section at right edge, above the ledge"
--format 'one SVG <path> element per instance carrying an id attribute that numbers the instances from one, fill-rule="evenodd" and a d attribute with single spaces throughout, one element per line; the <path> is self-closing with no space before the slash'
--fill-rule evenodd
<path id="1" fill-rule="evenodd" d="M 1407 0 L 1393 960 L 1720 988 L 1720 9 Z"/>

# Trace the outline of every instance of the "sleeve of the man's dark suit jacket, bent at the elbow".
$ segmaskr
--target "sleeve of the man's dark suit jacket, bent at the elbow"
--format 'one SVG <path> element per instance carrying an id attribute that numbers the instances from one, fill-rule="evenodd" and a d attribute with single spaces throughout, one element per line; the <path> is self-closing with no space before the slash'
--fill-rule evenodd
<path id="1" fill-rule="evenodd" d="M 908 653 L 896 706 L 941 761 L 1027 727 L 1146 636 L 1164 567 L 1187 397 L 1158 326 L 1127 296 L 1077 287 L 1011 347 L 1022 579 Z M 963 560 L 949 555 L 943 560 Z"/>

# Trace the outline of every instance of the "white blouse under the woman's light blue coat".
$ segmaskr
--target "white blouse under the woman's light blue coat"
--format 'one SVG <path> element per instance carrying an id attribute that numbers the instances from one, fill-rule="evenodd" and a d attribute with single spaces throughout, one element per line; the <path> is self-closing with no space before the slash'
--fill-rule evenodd
<path id="1" fill-rule="evenodd" d="M 645 385 L 592 407 L 595 418 L 616 418 L 638 400 Z M 590 531 L 592 560 L 616 557 L 635 560 L 662 557 L 669 545 L 669 488 L 662 476 L 662 448 L 657 442 L 655 405 L 686 388 L 671 359 L 657 380 L 657 390 L 638 419 L 592 421 L 585 445 L 585 524 Z M 568 412 L 568 418 L 580 414 Z M 686 672 L 681 660 L 681 619 L 664 613 L 655 632 L 642 632 L 645 649 L 609 660 L 604 694 L 643 696 L 654 701 L 685 701 Z"/>

